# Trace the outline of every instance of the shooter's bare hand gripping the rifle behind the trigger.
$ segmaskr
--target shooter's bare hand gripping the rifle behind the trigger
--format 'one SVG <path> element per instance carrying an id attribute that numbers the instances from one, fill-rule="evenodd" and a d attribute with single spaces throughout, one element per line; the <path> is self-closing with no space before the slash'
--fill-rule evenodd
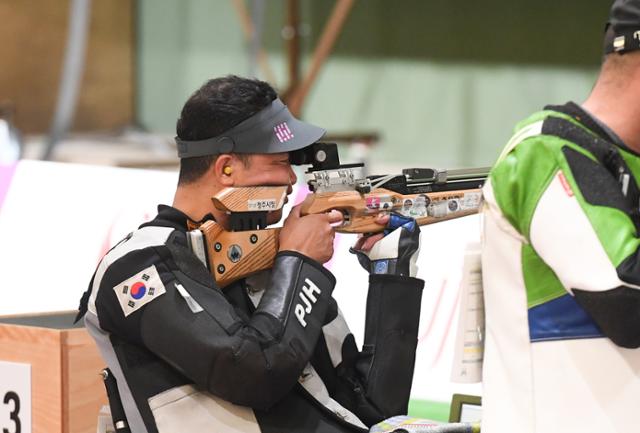
<path id="1" fill-rule="evenodd" d="M 333 256 L 333 225 L 342 221 L 342 213 L 300 216 L 300 205 L 295 206 L 280 231 L 279 251 L 297 251 L 319 262 L 326 263 Z"/>

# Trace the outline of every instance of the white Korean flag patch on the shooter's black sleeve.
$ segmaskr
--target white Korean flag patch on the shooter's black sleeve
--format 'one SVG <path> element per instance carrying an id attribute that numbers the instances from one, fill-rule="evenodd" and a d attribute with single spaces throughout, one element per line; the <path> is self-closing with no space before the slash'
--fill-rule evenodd
<path id="1" fill-rule="evenodd" d="M 154 265 L 124 280 L 113 290 L 125 317 L 166 292 Z"/>

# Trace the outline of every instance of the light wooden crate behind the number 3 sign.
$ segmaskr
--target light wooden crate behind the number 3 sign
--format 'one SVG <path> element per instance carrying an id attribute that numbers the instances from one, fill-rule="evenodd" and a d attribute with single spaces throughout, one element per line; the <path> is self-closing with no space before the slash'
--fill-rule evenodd
<path id="1" fill-rule="evenodd" d="M 74 315 L 0 317 L 0 361 L 31 365 L 33 433 L 95 433 L 107 404 L 104 361 Z"/>

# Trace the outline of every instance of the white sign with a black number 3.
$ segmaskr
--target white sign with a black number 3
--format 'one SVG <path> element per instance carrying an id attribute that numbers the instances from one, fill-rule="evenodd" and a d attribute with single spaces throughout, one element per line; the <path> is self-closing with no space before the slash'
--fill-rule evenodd
<path id="1" fill-rule="evenodd" d="M 31 365 L 0 361 L 0 431 L 31 433 Z"/>

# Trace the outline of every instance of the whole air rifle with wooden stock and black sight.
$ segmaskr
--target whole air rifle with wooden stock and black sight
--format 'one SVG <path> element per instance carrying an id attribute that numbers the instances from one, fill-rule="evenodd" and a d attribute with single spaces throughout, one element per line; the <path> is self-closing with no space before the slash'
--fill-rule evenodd
<path id="1" fill-rule="evenodd" d="M 420 225 L 477 213 L 489 172 L 410 168 L 397 175 L 365 176 L 364 164 L 340 164 L 335 143 L 315 143 L 292 152 L 290 159 L 296 165 L 311 164 L 306 175 L 312 194 L 302 202 L 301 215 L 339 210 L 344 217 L 336 227 L 339 233 L 383 231 L 375 223 L 380 212 L 409 216 Z M 220 287 L 273 266 L 280 228 L 266 228 L 267 214 L 282 209 L 287 188 L 226 188 L 212 198 L 229 215 L 231 231 L 207 221 L 189 237 Z M 203 244 L 206 248 L 197 247 Z"/>

